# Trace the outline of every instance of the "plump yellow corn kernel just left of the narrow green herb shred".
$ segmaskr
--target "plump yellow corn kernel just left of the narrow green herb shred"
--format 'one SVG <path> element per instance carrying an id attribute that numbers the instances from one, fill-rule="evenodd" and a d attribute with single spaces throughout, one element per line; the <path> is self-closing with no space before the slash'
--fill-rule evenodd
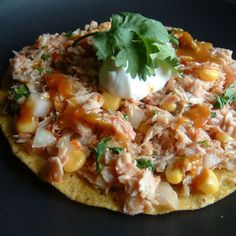
<path id="1" fill-rule="evenodd" d="M 86 160 L 86 155 L 83 151 L 77 148 L 72 148 L 67 154 L 68 160 L 63 166 L 66 172 L 74 172 L 80 169 Z"/>

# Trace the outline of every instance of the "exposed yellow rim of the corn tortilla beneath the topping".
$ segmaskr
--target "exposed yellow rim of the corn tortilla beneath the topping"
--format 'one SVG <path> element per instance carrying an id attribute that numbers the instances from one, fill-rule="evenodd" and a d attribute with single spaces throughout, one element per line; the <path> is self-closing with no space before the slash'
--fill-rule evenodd
<path id="1" fill-rule="evenodd" d="M 11 81 L 8 71 L 2 83 L 0 91 L 0 107 L 7 98 L 7 87 Z M 0 126 L 5 137 L 8 139 L 12 148 L 13 154 L 18 157 L 25 165 L 28 166 L 40 178 L 40 171 L 45 164 L 45 160 L 35 154 L 26 153 L 21 144 L 15 142 L 13 118 L 6 114 L 0 114 Z M 227 170 L 215 170 L 219 180 L 219 190 L 216 194 L 194 194 L 189 197 L 183 197 L 178 193 L 179 207 L 176 210 L 170 210 L 165 207 L 156 207 L 154 211 L 146 211 L 145 214 L 157 215 L 171 211 L 180 210 L 195 210 L 207 205 L 213 204 L 216 201 L 228 196 L 236 190 L 236 172 Z M 89 206 L 103 207 L 112 211 L 122 212 L 123 200 L 122 194 L 119 192 L 109 192 L 105 194 L 98 189 L 93 188 L 87 181 L 80 178 L 77 174 L 65 173 L 62 183 L 52 183 L 60 192 L 65 194 L 71 200 L 86 204 Z M 178 192 L 178 191 L 177 191 Z"/>

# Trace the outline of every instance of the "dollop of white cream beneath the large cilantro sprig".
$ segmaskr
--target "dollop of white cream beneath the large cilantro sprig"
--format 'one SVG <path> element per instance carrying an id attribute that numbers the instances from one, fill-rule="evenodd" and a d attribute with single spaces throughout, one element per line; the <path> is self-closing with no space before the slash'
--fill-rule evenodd
<path id="1" fill-rule="evenodd" d="M 160 67 L 155 70 L 156 75 L 147 77 L 146 81 L 139 76 L 132 78 L 126 70 L 127 67 L 117 68 L 111 59 L 105 60 L 99 71 L 100 87 L 121 98 L 141 100 L 162 89 L 171 77 L 170 71 L 165 72 Z"/>

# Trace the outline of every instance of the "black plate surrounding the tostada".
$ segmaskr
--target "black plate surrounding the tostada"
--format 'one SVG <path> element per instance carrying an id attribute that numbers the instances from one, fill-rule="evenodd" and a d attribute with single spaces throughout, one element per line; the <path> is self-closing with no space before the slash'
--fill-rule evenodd
<path id="1" fill-rule="evenodd" d="M 190 0 L 0 0 L 0 77 L 11 50 L 45 32 L 83 27 L 92 19 L 132 11 L 190 31 L 196 38 L 236 51 L 236 5 Z M 236 235 L 236 195 L 193 212 L 126 216 L 70 201 L 40 181 L 0 141 L 1 235 Z"/>

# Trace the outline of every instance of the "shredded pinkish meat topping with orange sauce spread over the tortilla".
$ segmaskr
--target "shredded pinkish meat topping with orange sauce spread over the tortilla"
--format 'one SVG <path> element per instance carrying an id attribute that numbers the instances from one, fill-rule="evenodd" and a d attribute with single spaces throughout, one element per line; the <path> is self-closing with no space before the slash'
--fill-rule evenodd
<path id="1" fill-rule="evenodd" d="M 181 195 L 194 194 L 193 180 L 204 168 L 236 170 L 236 102 L 222 109 L 215 106 L 216 95 L 236 84 L 236 61 L 230 50 L 221 48 L 209 50 L 217 61 L 194 56 L 184 60 L 181 55 L 182 77 L 173 75 L 163 89 L 141 101 L 121 99 L 117 108 L 105 109 L 107 101 L 97 82 L 101 62 L 91 40 L 72 44 L 74 38 L 109 27 L 110 22 L 91 22 L 84 30 L 75 30 L 72 38 L 44 34 L 34 45 L 14 52 L 13 79 L 38 96 L 33 102 L 29 102 L 33 95 L 18 101 L 28 116 L 38 110 L 30 125 L 17 123 L 14 137 L 29 152 L 43 152 L 42 175 L 49 182 L 62 181 L 67 166 L 68 172 L 105 193 L 112 187 L 123 191 L 127 214 L 150 213 L 158 206 L 177 210 Z M 205 68 L 217 72 L 217 78 L 201 78 L 199 71 Z M 187 116 L 195 105 L 204 105 L 202 114 Z M 27 118 L 21 113 L 17 122 Z M 27 125 L 30 130 L 23 132 Z M 38 127 L 44 133 L 37 135 L 40 142 L 35 147 L 41 149 L 34 149 Z M 228 139 L 217 138 L 219 133 Z M 73 169 L 78 160 L 81 166 Z M 181 173 L 180 190 L 168 182 L 170 167 Z"/>

